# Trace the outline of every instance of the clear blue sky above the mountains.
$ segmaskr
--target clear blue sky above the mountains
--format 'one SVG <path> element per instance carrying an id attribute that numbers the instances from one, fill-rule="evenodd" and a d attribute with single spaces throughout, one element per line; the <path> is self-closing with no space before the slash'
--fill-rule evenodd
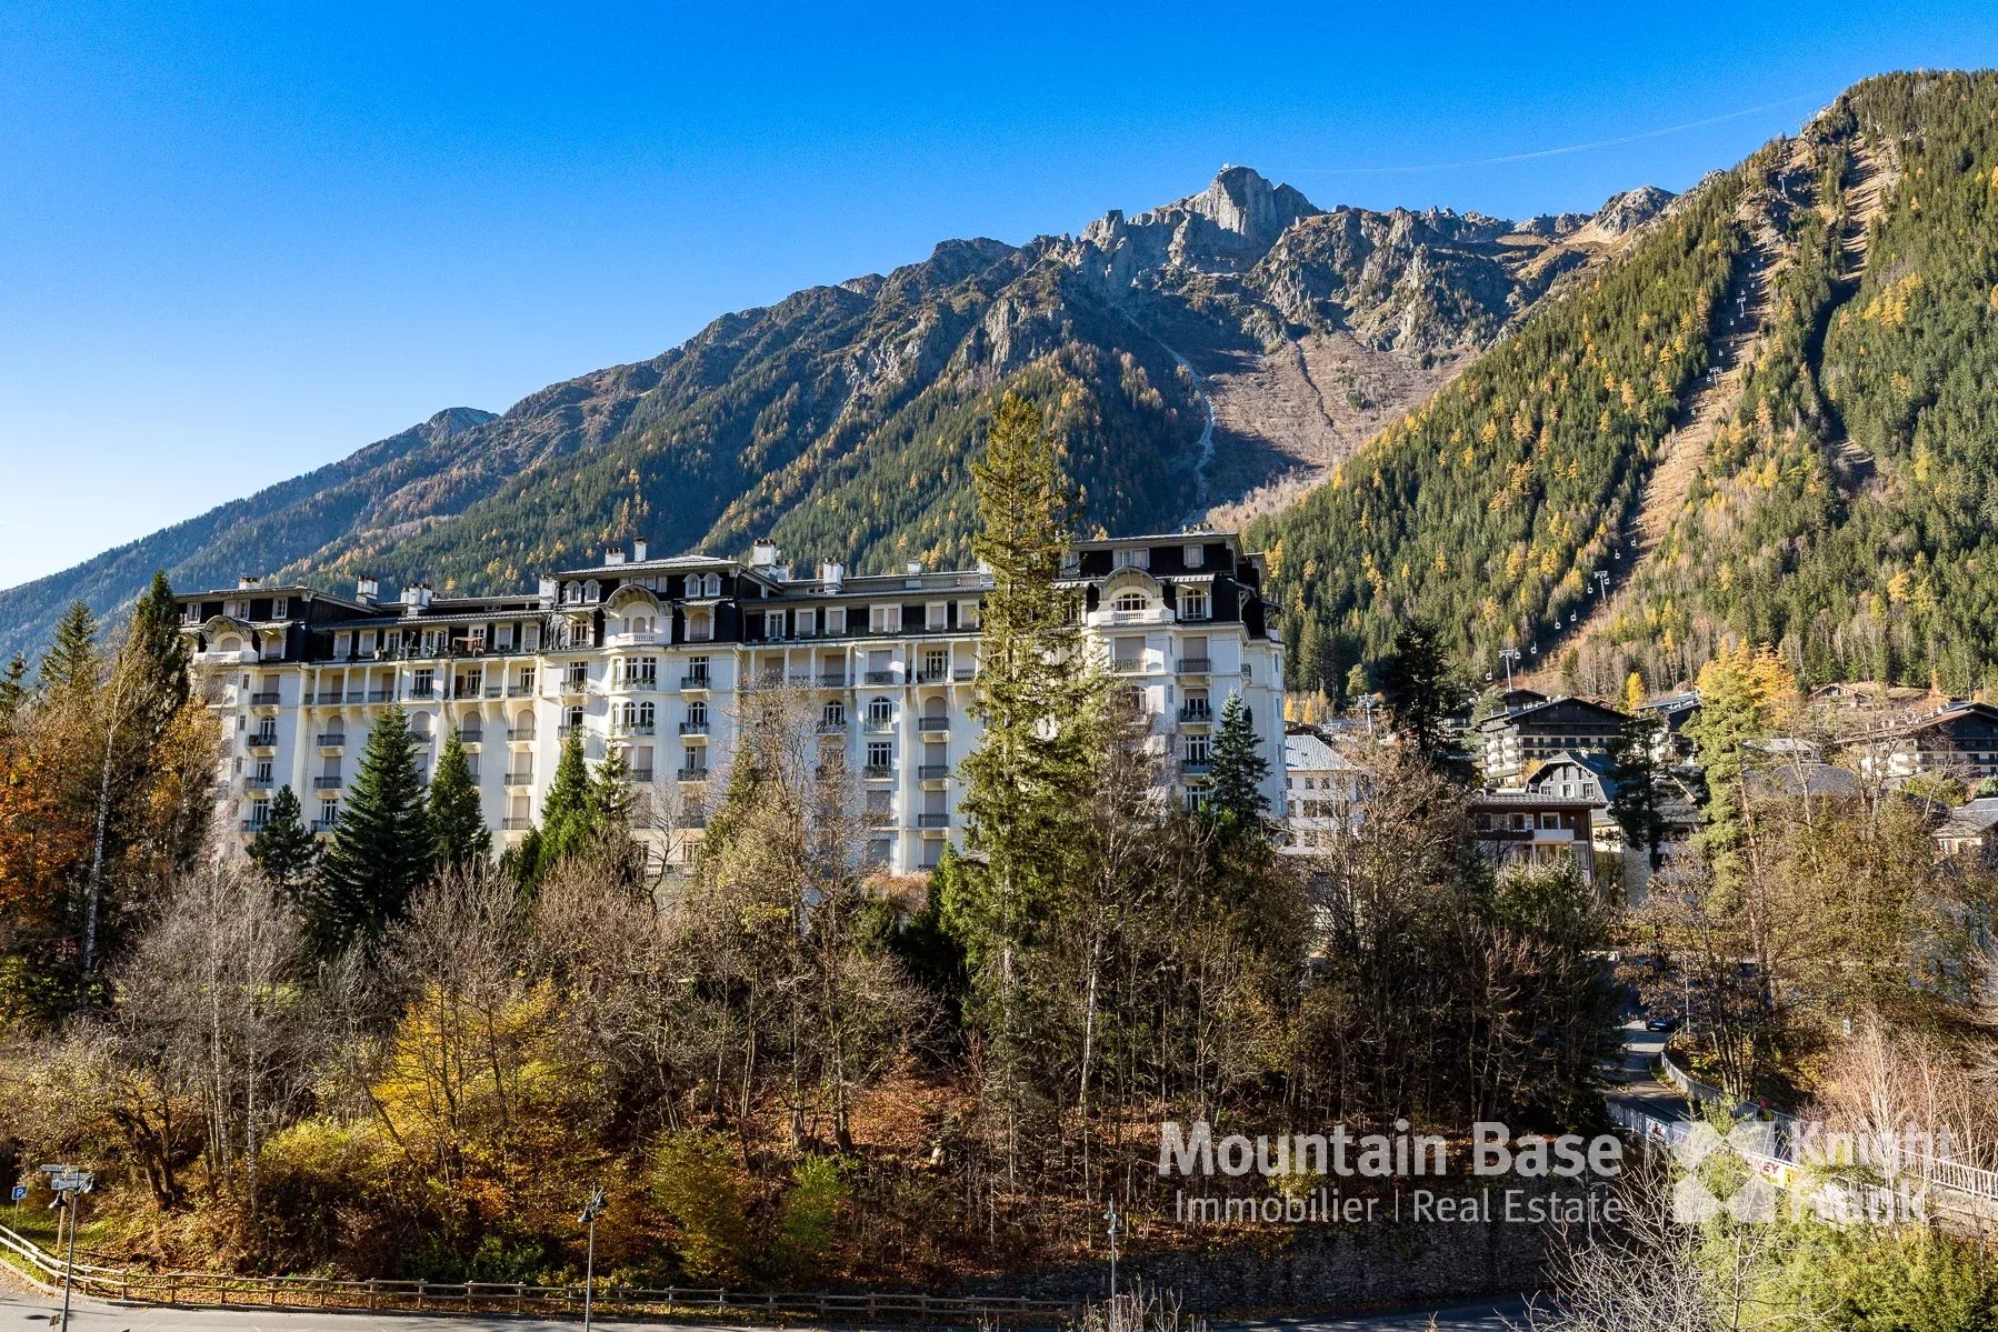
<path id="1" fill-rule="evenodd" d="M 1592 210 L 1866 74 L 1998 58 L 1998 10 L 1920 0 L 1401 10 L 0 0 L 0 585 L 1223 162 Z"/>

